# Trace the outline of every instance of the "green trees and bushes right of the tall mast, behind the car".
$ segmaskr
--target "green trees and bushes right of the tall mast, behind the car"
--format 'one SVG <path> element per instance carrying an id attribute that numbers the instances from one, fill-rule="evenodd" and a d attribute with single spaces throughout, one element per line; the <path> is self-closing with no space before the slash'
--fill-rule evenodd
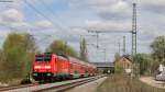
<path id="1" fill-rule="evenodd" d="M 140 74 L 155 74 L 160 64 L 165 66 L 165 36 L 156 37 L 150 47 L 150 54 L 136 54 L 133 57 L 139 64 Z"/>

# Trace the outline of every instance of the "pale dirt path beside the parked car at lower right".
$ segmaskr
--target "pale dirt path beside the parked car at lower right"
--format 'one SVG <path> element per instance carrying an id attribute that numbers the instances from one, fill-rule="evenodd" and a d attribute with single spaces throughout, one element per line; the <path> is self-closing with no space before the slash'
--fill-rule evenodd
<path id="1" fill-rule="evenodd" d="M 153 77 L 142 77 L 140 80 L 148 85 L 165 89 L 165 82 L 156 81 Z"/>

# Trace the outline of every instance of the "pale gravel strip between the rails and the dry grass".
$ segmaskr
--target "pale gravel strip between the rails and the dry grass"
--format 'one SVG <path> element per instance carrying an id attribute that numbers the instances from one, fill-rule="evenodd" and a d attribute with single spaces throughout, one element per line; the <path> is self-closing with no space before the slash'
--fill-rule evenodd
<path id="1" fill-rule="evenodd" d="M 96 92 L 97 88 L 107 79 L 107 77 L 98 79 L 96 81 L 76 87 L 65 92 Z"/>

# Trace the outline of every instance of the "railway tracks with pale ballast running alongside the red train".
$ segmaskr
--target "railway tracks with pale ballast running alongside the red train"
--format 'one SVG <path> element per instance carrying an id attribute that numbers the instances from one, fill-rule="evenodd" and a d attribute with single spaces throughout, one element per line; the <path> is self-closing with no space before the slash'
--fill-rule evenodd
<path id="1" fill-rule="evenodd" d="M 0 92 L 63 92 L 68 89 L 95 81 L 102 77 L 105 76 L 97 76 L 46 84 L 26 84 L 26 85 L 9 87 L 0 89 Z"/>

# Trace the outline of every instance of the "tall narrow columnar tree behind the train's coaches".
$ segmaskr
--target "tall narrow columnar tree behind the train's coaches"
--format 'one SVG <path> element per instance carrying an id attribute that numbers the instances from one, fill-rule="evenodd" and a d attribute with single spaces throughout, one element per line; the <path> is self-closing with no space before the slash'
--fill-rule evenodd
<path id="1" fill-rule="evenodd" d="M 86 45 L 86 39 L 82 38 L 82 41 L 80 42 L 80 59 L 84 61 L 88 61 L 88 57 L 87 57 L 87 45 Z"/>

